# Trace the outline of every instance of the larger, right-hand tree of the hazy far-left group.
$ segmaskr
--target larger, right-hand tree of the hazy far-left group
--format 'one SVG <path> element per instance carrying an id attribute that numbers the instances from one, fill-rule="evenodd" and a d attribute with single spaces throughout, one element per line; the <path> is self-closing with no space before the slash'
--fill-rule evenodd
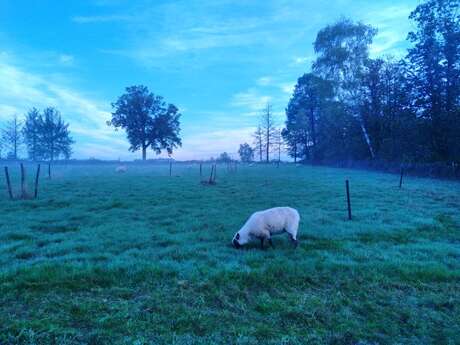
<path id="1" fill-rule="evenodd" d="M 74 140 L 70 137 L 69 124 L 62 120 L 56 108 L 48 107 L 37 120 L 38 149 L 36 158 L 54 161 L 59 157 L 70 158 Z"/>

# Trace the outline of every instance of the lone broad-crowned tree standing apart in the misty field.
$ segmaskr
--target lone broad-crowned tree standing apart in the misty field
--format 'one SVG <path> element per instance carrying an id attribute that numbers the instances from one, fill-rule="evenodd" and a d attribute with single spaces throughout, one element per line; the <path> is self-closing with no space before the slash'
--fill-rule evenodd
<path id="1" fill-rule="evenodd" d="M 155 96 L 146 86 L 130 86 L 126 93 L 112 103 L 114 112 L 108 125 L 126 130 L 131 144 L 130 151 L 142 150 L 142 159 L 147 158 L 150 147 L 160 154 L 182 145 L 179 137 L 179 110 L 173 104 L 166 105 L 161 96 Z"/>

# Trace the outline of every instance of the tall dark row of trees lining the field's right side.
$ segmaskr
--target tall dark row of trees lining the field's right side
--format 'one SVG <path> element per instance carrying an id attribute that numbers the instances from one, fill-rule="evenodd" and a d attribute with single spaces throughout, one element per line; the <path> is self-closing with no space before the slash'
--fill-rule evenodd
<path id="1" fill-rule="evenodd" d="M 290 156 L 460 162 L 460 2 L 425 1 L 410 19 L 401 60 L 369 56 L 371 26 L 342 19 L 319 31 L 286 109 Z M 258 131 L 268 138 L 269 127 Z"/>

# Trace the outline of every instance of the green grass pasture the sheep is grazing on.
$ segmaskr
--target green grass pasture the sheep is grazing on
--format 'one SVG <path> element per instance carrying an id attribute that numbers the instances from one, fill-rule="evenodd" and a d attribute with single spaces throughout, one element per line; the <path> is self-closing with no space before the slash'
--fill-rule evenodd
<path id="1" fill-rule="evenodd" d="M 0 344 L 460 343 L 459 183 L 286 165 L 219 166 L 204 186 L 196 165 L 168 169 L 56 166 L 13 202 L 2 176 Z M 282 205 L 297 249 L 230 246 Z"/>

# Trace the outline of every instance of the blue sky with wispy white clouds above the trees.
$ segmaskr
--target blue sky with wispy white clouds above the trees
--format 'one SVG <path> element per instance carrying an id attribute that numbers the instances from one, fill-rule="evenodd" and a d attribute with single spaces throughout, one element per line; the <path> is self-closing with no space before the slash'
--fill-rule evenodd
<path id="1" fill-rule="evenodd" d="M 0 126 L 55 106 L 70 124 L 74 158 L 138 159 L 106 122 L 125 88 L 142 84 L 182 113 L 175 159 L 236 158 L 267 102 L 283 125 L 321 28 L 362 21 L 378 29 L 372 56 L 401 57 L 419 3 L 0 0 Z"/>

